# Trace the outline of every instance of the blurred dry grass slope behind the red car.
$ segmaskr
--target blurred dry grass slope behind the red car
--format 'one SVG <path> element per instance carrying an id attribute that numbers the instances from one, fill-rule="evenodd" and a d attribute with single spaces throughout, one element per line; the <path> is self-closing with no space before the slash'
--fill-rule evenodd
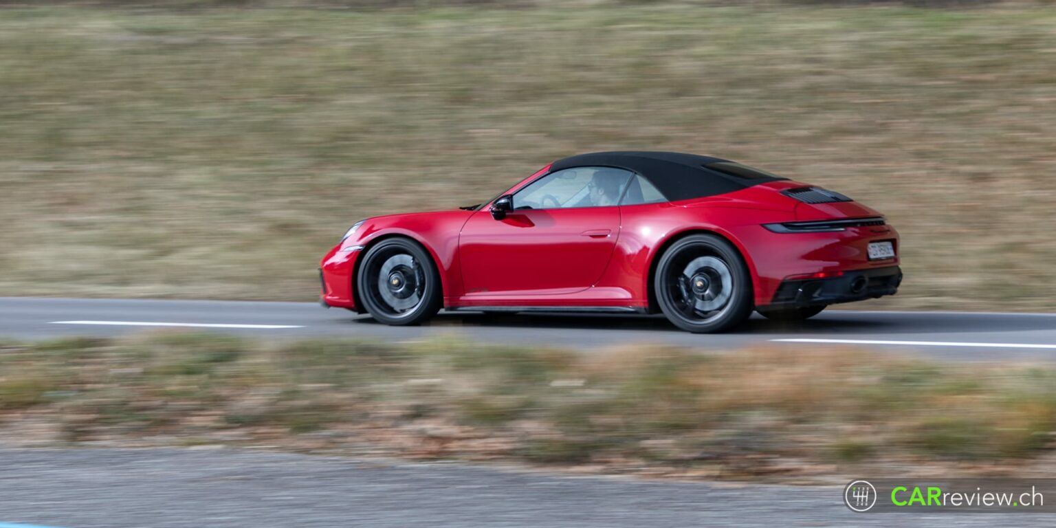
<path id="1" fill-rule="evenodd" d="M 356 220 L 583 151 L 884 211 L 876 307 L 1056 308 L 1056 11 L 0 10 L 0 295 L 310 300 Z"/>

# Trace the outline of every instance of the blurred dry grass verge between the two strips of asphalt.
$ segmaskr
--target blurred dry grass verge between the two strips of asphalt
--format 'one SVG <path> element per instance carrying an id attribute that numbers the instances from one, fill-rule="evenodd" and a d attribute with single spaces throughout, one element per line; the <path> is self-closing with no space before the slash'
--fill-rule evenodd
<path id="1" fill-rule="evenodd" d="M 163 333 L 0 343 L 0 446 L 231 446 L 691 478 L 1046 476 L 1056 371 Z"/>

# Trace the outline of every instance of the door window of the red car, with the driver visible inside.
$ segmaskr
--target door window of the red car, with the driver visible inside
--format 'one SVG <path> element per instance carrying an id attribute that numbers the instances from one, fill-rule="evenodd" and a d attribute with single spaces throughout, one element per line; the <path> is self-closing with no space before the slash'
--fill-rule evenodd
<path id="1" fill-rule="evenodd" d="M 568 209 L 617 205 L 634 173 L 611 167 L 551 172 L 513 194 L 514 209 Z"/>

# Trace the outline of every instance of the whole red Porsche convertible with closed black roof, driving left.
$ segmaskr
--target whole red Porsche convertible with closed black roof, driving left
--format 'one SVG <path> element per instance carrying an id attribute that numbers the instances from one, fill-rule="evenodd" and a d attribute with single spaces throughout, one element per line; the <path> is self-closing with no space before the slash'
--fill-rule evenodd
<path id="1" fill-rule="evenodd" d="M 414 324 L 448 310 L 663 312 L 719 332 L 892 295 L 899 235 L 837 192 L 735 162 L 598 152 L 486 203 L 357 222 L 322 260 L 322 303 Z"/>

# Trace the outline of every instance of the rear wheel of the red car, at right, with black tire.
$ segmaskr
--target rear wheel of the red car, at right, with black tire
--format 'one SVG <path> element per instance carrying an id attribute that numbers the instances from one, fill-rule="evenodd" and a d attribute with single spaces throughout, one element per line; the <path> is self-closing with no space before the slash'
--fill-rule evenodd
<path id="1" fill-rule="evenodd" d="M 653 280 L 660 309 L 684 331 L 729 329 L 752 315 L 752 280 L 737 249 L 714 234 L 691 234 L 660 256 Z"/>

